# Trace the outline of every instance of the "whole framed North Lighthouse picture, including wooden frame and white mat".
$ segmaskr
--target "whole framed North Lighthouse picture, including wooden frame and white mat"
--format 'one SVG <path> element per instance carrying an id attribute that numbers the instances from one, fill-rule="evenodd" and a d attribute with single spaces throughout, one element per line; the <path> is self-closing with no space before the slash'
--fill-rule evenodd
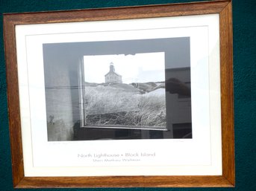
<path id="1" fill-rule="evenodd" d="M 4 14 L 13 186 L 234 187 L 231 1 Z"/>

